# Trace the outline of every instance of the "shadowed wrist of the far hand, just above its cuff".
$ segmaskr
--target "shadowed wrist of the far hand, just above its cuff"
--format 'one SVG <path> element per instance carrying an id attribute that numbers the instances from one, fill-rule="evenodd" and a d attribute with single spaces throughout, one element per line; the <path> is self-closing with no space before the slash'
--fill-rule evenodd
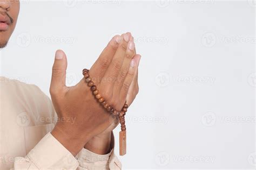
<path id="1" fill-rule="evenodd" d="M 99 134 L 91 138 L 85 145 L 84 148 L 96 153 L 96 154 L 107 154 L 111 151 L 111 132 Z"/>

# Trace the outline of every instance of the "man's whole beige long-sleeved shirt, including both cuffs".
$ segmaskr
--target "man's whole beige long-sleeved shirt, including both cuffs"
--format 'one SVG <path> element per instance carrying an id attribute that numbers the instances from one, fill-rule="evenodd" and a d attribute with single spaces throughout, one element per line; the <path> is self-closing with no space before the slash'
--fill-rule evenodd
<path id="1" fill-rule="evenodd" d="M 113 150 L 73 155 L 51 135 L 57 116 L 37 86 L 0 77 L 0 169 L 121 169 Z M 71 120 L 72 121 L 72 120 Z"/>

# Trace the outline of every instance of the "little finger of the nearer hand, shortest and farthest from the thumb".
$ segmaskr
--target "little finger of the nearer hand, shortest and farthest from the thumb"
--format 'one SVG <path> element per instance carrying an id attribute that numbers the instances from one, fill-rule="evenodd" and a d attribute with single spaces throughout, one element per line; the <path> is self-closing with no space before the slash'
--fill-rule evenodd
<path id="1" fill-rule="evenodd" d="M 134 56 L 134 58 L 131 60 L 130 63 L 130 68 L 128 70 L 128 73 L 125 77 L 123 86 L 121 88 L 120 91 L 120 100 L 125 100 L 128 94 L 128 91 L 130 89 L 130 86 L 132 84 L 132 81 L 134 79 L 134 76 L 136 75 L 136 70 L 137 67 L 139 65 L 139 60 L 140 60 L 141 56 L 139 54 L 137 54 L 136 56 Z"/>

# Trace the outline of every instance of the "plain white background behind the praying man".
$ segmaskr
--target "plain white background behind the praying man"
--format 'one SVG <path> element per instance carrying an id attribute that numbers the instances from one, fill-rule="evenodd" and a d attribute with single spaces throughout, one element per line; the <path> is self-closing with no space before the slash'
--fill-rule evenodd
<path id="1" fill-rule="evenodd" d="M 71 86 L 114 34 L 130 31 L 142 60 L 123 167 L 255 168 L 255 7 L 253 0 L 24 0 L 1 75 L 49 95 L 56 49 L 68 55 Z"/>

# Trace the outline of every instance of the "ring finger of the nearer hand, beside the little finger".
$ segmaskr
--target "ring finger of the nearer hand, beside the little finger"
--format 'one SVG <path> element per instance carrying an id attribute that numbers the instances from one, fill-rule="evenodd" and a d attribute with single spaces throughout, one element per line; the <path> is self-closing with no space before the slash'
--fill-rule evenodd
<path id="1" fill-rule="evenodd" d="M 124 83 L 124 79 L 129 70 L 131 60 L 134 55 L 135 55 L 135 44 L 133 41 L 129 41 L 128 45 L 127 45 L 124 61 L 123 61 L 122 67 L 121 67 L 120 72 L 117 77 L 117 81 L 114 82 L 114 89 L 113 89 L 114 95 L 120 93 L 120 90 Z"/>

